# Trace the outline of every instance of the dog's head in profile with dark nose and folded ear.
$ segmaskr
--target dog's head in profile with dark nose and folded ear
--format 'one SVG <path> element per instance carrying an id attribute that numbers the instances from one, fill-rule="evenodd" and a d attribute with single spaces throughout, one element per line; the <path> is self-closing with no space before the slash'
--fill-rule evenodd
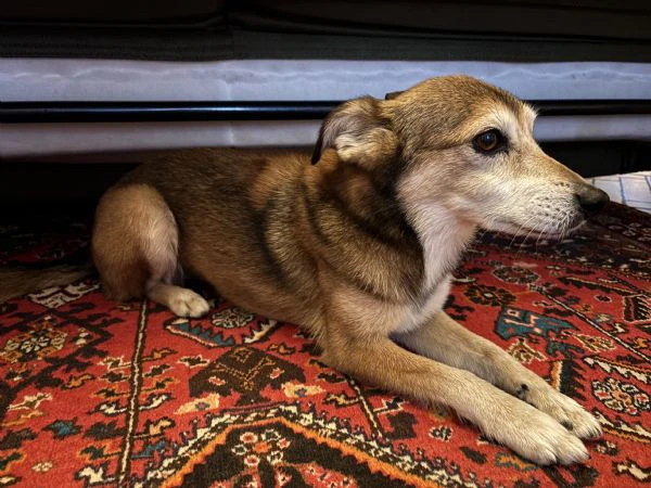
<path id="1" fill-rule="evenodd" d="M 608 195 L 546 155 L 536 113 L 467 76 L 432 78 L 386 100 L 344 103 L 321 127 L 312 163 L 339 158 L 391 176 L 407 210 L 445 211 L 488 230 L 562 235 Z"/>

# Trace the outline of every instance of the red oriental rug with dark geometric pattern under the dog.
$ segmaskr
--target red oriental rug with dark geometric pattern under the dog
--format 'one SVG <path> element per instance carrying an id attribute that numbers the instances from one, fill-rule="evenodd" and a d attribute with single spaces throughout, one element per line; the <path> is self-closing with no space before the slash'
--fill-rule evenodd
<path id="1" fill-rule="evenodd" d="M 87 228 L 0 228 L 0 264 Z M 537 467 L 455 416 L 320 363 L 296 326 L 106 301 L 88 280 L 0 305 L 0 486 L 633 487 L 651 483 L 651 218 L 612 205 L 562 243 L 485 234 L 450 316 L 586 406 L 604 435 Z M 523 433 L 525 435 L 526 433 Z"/>

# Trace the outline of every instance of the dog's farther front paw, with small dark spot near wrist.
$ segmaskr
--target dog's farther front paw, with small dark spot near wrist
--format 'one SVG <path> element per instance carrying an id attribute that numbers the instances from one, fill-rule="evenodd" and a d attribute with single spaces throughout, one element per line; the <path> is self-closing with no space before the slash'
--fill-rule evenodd
<path id="1" fill-rule="evenodd" d="M 562 426 L 582 439 L 599 437 L 601 426 L 572 398 L 557 391 L 545 381 L 535 385 L 522 384 L 516 396 L 538 410 L 556 419 Z"/>

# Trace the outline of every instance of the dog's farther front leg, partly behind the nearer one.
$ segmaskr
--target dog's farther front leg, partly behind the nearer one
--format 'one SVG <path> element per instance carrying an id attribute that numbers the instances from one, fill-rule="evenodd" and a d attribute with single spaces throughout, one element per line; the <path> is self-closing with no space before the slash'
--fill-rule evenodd
<path id="1" fill-rule="evenodd" d="M 421 328 L 395 338 L 420 355 L 473 372 L 551 415 L 578 437 L 601 434 L 597 420 L 576 401 L 443 311 Z"/>

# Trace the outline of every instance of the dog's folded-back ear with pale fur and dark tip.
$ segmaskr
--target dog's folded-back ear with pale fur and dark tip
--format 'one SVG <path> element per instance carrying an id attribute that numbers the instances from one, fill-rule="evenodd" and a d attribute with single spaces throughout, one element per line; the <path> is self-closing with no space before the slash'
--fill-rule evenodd
<path id="1" fill-rule="evenodd" d="M 312 164 L 329 147 L 336 150 L 340 159 L 367 167 L 391 157 L 398 139 L 391 120 L 382 115 L 381 103 L 372 97 L 363 97 L 331 112 L 321 125 Z"/>

